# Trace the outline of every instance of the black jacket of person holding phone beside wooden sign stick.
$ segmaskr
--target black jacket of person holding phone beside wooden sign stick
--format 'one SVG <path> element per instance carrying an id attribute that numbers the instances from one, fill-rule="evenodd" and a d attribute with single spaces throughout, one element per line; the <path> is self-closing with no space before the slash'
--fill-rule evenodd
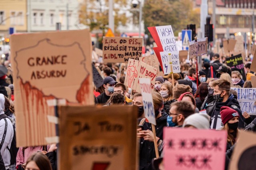
<path id="1" fill-rule="evenodd" d="M 167 113 L 162 113 L 162 116 L 156 119 L 156 136 L 163 140 L 163 129 L 167 125 Z M 144 130 L 152 131 L 151 124 L 145 122 L 143 124 Z M 161 153 L 159 153 L 161 155 Z M 152 170 L 152 159 L 156 158 L 154 149 L 154 142 L 140 139 L 140 170 Z"/>

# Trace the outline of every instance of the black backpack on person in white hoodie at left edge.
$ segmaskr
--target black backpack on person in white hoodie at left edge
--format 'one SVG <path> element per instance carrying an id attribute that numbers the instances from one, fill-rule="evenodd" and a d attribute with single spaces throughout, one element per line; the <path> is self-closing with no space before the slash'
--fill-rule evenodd
<path id="1" fill-rule="evenodd" d="M 4 119 L 4 118 L 9 119 L 9 117 L 5 114 L 0 115 L 0 120 Z M 0 143 L 0 149 L 2 148 L 2 143 L 4 142 L 6 131 L 7 131 L 7 121 L 6 120 L 5 120 L 5 123 L 6 123 L 6 128 L 4 129 L 4 137 L 2 138 L 2 141 Z M 15 129 L 13 129 L 13 138 L 12 138 L 11 148 L 9 149 L 7 147 L 7 149 L 9 150 L 10 155 L 11 155 L 10 165 L 15 164 L 16 163 L 16 156 L 17 156 L 17 153 L 18 153 L 18 150 L 19 150 L 19 148 L 16 147 L 16 131 L 15 131 Z"/>

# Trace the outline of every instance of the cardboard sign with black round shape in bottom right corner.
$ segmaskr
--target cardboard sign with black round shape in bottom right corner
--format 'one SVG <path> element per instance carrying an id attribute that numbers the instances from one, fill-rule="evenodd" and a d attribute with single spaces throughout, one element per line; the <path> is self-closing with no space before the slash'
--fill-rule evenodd
<path id="1" fill-rule="evenodd" d="M 238 141 L 232 153 L 229 170 L 253 170 L 256 153 L 256 134 L 248 131 L 240 131 Z"/>

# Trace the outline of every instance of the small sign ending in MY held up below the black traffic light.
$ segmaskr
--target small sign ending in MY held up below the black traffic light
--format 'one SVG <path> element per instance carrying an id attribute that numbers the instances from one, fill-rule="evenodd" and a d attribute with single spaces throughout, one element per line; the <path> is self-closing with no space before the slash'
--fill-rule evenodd
<path id="1" fill-rule="evenodd" d="M 208 37 L 197 39 L 189 42 L 189 59 L 193 57 L 207 54 Z"/>

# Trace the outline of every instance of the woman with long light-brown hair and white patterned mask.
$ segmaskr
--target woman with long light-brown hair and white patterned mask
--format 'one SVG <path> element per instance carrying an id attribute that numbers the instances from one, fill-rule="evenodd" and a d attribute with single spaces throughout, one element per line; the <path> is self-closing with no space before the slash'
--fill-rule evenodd
<path id="1" fill-rule="evenodd" d="M 160 88 L 160 94 L 164 100 L 164 111 L 169 113 L 170 105 L 173 101 L 173 94 L 172 94 L 172 84 L 170 82 L 165 82 L 162 84 Z"/>

